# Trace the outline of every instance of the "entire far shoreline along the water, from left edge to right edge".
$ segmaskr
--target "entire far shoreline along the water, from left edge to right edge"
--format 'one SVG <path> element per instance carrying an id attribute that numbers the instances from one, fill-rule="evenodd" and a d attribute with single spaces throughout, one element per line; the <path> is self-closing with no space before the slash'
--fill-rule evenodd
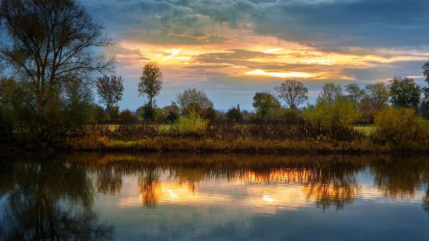
<path id="1" fill-rule="evenodd" d="M 266 154 L 387 154 L 429 155 L 429 150 L 397 149 L 374 144 L 368 139 L 353 142 L 337 140 L 235 140 L 193 138 L 145 138 L 118 140 L 107 137 L 71 138 L 51 146 L 31 143 L 0 146 L 0 152 L 194 152 L 194 153 L 266 153 Z"/>

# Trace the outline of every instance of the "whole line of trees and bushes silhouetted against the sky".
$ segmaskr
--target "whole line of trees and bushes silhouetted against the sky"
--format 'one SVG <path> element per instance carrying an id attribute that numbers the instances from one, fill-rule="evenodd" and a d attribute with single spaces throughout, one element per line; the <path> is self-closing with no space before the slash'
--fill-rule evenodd
<path id="1" fill-rule="evenodd" d="M 81 133 L 88 123 L 106 119 L 172 123 L 179 116 L 199 116 L 208 121 L 305 117 L 320 124 L 326 122 L 322 118 L 326 113 L 342 113 L 352 118 L 334 119 L 372 122 L 375 113 L 388 103 L 428 116 L 429 88 L 401 77 L 392 78 L 388 84 L 368 84 L 364 89 L 349 84 L 345 93 L 339 84 L 325 83 L 316 103 L 304 106 L 307 87 L 298 80 L 285 80 L 272 91 L 255 93 L 255 113 L 241 110 L 239 105 L 227 113 L 215 110 L 205 92 L 195 88 L 178 93 L 170 105 L 159 108 L 155 98 L 162 89 L 163 74 L 154 61 L 145 62 L 137 87 L 138 95 L 146 98 L 144 104 L 135 113 L 119 111 L 124 80 L 115 75 L 115 57 L 106 54 L 113 42 L 103 33 L 103 23 L 92 18 L 79 2 L 3 0 L 0 17 L 6 33 L 3 39 L 7 40 L 0 43 L 3 141 L 24 133 L 24 138 L 41 143 L 57 142 Z M 429 61 L 423 65 L 423 74 L 429 83 Z"/>

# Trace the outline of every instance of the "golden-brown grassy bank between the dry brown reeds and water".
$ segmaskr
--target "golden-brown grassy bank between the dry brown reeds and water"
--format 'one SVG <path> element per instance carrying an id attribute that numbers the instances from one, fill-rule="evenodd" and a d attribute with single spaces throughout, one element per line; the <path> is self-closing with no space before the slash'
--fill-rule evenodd
<path id="1" fill-rule="evenodd" d="M 154 137 L 141 140 L 118 140 L 109 137 L 88 136 L 64 142 L 63 149 L 83 151 L 207 151 L 207 152 L 390 152 L 394 149 L 375 145 L 369 139 L 355 142 L 326 139 L 309 140 L 254 140 L 237 138 Z"/>

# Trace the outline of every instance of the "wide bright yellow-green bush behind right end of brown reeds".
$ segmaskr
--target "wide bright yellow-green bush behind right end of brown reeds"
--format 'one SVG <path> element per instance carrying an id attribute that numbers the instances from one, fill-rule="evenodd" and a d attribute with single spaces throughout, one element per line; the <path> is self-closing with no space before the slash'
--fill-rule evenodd
<path id="1" fill-rule="evenodd" d="M 334 103 L 320 101 L 316 106 L 302 112 L 302 117 L 312 125 L 325 128 L 341 128 L 350 126 L 357 121 L 361 113 L 354 101 L 344 97 L 338 98 Z"/>

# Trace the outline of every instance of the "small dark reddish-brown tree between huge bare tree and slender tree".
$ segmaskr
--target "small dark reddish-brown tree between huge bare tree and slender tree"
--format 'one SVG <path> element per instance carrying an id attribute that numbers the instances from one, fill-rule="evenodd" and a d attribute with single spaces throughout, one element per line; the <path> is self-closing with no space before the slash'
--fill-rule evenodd
<path id="1" fill-rule="evenodd" d="M 124 92 L 124 80 L 121 76 L 98 77 L 95 87 L 97 95 L 100 97 L 100 103 L 105 104 L 110 111 L 112 111 L 112 107 L 118 109 L 118 102 L 122 100 L 122 92 Z"/>

